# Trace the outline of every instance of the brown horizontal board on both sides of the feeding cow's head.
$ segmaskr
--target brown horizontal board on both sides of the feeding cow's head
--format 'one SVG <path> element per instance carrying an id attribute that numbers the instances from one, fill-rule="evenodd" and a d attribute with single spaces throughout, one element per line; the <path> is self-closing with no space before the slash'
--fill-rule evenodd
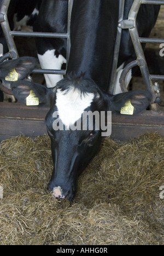
<path id="1" fill-rule="evenodd" d="M 20 103 L 0 103 L 0 141 L 17 135 L 36 137 L 46 134 L 44 118 L 49 108 L 25 107 Z M 130 140 L 147 132 L 164 136 L 164 112 L 145 111 L 136 116 L 112 114 L 111 138 Z"/>

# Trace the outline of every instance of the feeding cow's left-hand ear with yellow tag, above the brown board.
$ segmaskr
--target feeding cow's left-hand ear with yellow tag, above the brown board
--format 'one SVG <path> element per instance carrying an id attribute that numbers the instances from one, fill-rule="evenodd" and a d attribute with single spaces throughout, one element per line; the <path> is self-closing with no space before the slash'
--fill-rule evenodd
<path id="1" fill-rule="evenodd" d="M 44 85 L 34 84 L 23 80 L 11 84 L 11 90 L 19 102 L 26 106 L 49 106 L 49 94 L 51 89 Z"/>

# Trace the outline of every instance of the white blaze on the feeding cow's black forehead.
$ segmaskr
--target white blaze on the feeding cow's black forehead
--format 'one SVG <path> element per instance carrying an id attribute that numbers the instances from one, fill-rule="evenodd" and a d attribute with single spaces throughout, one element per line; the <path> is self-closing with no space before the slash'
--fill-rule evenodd
<path id="1" fill-rule="evenodd" d="M 91 106 L 94 94 L 81 94 L 78 89 L 70 88 L 68 92 L 57 90 L 56 106 L 58 115 L 64 125 L 69 127 L 81 118 L 84 110 Z"/>

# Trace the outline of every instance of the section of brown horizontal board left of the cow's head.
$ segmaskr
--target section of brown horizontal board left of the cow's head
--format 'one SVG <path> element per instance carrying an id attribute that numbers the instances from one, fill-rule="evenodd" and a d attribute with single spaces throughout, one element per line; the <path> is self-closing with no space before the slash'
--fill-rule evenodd
<path id="1" fill-rule="evenodd" d="M 26 107 L 20 103 L 0 103 L 0 141 L 17 135 L 46 134 L 48 108 Z"/>

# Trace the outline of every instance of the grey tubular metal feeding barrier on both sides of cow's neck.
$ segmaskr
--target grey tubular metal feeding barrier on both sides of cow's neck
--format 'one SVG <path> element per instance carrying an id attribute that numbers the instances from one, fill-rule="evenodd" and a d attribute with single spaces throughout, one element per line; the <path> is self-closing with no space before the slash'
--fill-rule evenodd
<path id="1" fill-rule="evenodd" d="M 116 79 L 116 69 L 118 67 L 118 57 L 119 57 L 119 49 L 121 42 L 121 34 L 122 30 L 128 29 L 131 35 L 131 39 L 133 42 L 134 50 L 136 52 L 137 60 L 129 63 L 123 70 L 120 77 L 120 87 L 122 92 L 127 91 L 127 85 L 125 83 L 126 75 L 130 71 L 131 68 L 139 66 L 140 71 L 142 73 L 142 77 L 144 79 L 145 86 L 148 91 L 150 91 L 154 96 L 155 104 L 152 104 L 152 109 L 157 111 L 157 104 L 160 102 L 160 89 L 158 83 L 153 84 L 152 80 L 164 80 L 164 75 L 151 75 L 149 73 L 147 61 L 145 60 L 144 51 L 142 48 L 142 43 L 164 43 L 164 39 L 157 38 L 140 38 L 138 35 L 136 20 L 138 11 L 141 4 L 163 4 L 164 0 L 161 1 L 153 1 L 153 0 L 134 0 L 130 13 L 128 14 L 128 19 L 124 20 L 124 7 L 126 0 L 119 0 L 119 22 L 118 22 L 118 34 L 116 38 L 115 50 L 114 50 L 114 60 L 113 60 L 113 68 L 112 68 L 112 78 L 110 79 L 109 93 L 113 94 L 114 92 L 114 84 Z M 71 48 L 71 40 L 70 40 L 70 24 L 71 24 L 71 11 L 73 0 L 68 0 L 68 27 L 67 33 L 44 33 L 44 32 L 18 32 L 11 31 L 9 22 L 8 22 L 8 7 L 10 4 L 10 0 L 2 0 L 1 10 L 0 10 L 0 22 L 2 26 L 2 30 L 5 36 L 5 40 L 7 42 L 9 53 L 4 54 L 0 58 L 0 61 L 4 61 L 5 59 L 16 59 L 19 57 L 17 53 L 17 49 L 14 43 L 13 37 L 46 37 L 46 38 L 66 38 L 67 39 L 67 63 L 69 59 L 69 53 Z M 54 69 L 34 69 L 33 73 L 42 73 L 42 74 L 66 74 L 66 70 L 54 70 Z"/>

